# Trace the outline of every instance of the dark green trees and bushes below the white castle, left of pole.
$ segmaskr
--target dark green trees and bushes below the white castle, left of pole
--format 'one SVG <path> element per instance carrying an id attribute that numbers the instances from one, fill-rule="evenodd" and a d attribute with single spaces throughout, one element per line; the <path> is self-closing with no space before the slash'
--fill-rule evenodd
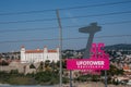
<path id="1" fill-rule="evenodd" d="M 0 72 L 0 83 L 10 85 L 52 85 L 59 83 L 59 74 L 44 71 L 32 74 L 20 74 L 17 70 L 10 73 Z"/>

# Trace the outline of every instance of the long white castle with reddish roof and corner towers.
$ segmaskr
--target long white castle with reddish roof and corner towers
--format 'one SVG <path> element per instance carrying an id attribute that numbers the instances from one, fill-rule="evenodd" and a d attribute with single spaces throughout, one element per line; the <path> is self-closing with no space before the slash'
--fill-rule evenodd
<path id="1" fill-rule="evenodd" d="M 21 48 L 21 63 L 37 63 L 46 60 L 50 62 L 59 61 L 59 48 L 56 50 L 48 50 L 47 47 L 35 50 L 26 50 L 25 47 Z"/>

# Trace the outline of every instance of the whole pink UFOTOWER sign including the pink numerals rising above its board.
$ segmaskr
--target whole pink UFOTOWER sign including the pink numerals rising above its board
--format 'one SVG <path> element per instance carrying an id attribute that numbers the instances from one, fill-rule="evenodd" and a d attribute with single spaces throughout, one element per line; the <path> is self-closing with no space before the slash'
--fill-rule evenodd
<path id="1" fill-rule="evenodd" d="M 67 60 L 68 70 L 109 70 L 109 55 L 105 53 L 105 45 L 93 44 L 90 59 L 69 59 Z"/>

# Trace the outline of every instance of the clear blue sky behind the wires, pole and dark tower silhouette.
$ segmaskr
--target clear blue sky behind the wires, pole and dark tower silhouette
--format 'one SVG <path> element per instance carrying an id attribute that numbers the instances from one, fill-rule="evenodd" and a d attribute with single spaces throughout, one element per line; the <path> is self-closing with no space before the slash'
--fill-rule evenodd
<path id="1" fill-rule="evenodd" d="M 0 51 L 17 51 L 21 46 L 26 49 L 36 49 L 47 46 L 49 49 L 55 49 L 59 46 L 58 40 L 48 40 L 59 38 L 58 21 L 56 10 L 59 10 L 62 35 L 63 38 L 80 38 L 88 37 L 87 34 L 79 33 L 79 28 L 90 25 L 90 23 L 97 22 L 102 26 L 102 32 L 97 33 L 94 42 L 105 42 L 105 45 L 115 44 L 131 44 L 131 37 L 106 37 L 131 35 L 131 2 L 119 3 L 114 5 L 100 5 L 80 9 L 67 9 L 74 7 L 87 7 L 93 4 L 124 2 L 130 0 L 0 0 L 0 14 L 8 13 L 9 15 L 0 15 Z M 67 10 L 61 10 L 61 9 Z M 19 12 L 55 10 L 39 13 L 26 14 L 10 14 Z M 123 12 L 114 15 L 100 15 L 88 17 L 63 18 L 74 16 L 87 16 Z M 124 13 L 127 12 L 127 13 Z M 26 22 L 26 23 L 8 23 L 21 21 L 36 21 L 36 20 L 55 18 L 53 21 Z M 126 23 L 127 22 L 127 23 Z M 118 24 L 109 24 L 118 23 Z M 75 27 L 66 27 L 75 26 Z M 50 28 L 52 27 L 52 28 Z M 35 29 L 34 29 L 35 28 Z M 39 29 L 40 28 L 40 29 Z M 24 29 L 24 30 L 23 30 Z M 32 29 L 32 30 L 25 30 Z M 5 32 L 3 32 L 5 30 Z M 14 32 L 10 32 L 14 30 Z M 105 36 L 105 37 L 104 37 Z M 98 38 L 103 37 L 103 38 Z M 45 39 L 45 40 L 41 40 Z M 11 42 L 22 40 L 21 42 Z M 37 40 L 37 41 L 23 41 Z M 39 41 L 40 40 L 40 41 Z M 4 42 L 9 41 L 9 42 Z M 63 40 L 63 49 L 82 49 L 86 46 L 87 38 L 67 39 Z"/>

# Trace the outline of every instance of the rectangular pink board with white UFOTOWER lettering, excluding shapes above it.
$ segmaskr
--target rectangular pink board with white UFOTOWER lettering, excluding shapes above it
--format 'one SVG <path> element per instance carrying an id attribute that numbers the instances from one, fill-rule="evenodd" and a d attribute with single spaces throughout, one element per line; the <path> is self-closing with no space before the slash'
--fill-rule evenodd
<path id="1" fill-rule="evenodd" d="M 68 70 L 109 70 L 108 59 L 69 59 Z"/>

